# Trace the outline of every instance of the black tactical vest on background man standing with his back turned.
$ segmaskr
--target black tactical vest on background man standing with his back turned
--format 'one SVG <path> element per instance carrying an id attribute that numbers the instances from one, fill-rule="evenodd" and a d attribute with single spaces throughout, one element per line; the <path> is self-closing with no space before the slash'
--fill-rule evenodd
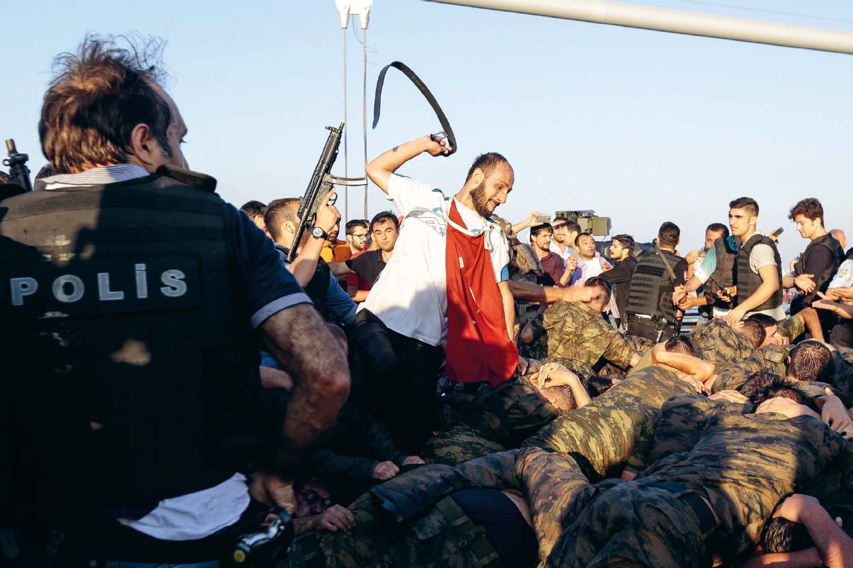
<path id="1" fill-rule="evenodd" d="M 669 251 L 653 251 L 642 257 L 631 278 L 628 304 L 625 311 L 646 316 L 665 317 L 667 322 L 676 321 L 676 308 L 672 304 L 675 285 L 666 270 L 661 254 L 666 255 L 672 270 L 682 261 Z"/>

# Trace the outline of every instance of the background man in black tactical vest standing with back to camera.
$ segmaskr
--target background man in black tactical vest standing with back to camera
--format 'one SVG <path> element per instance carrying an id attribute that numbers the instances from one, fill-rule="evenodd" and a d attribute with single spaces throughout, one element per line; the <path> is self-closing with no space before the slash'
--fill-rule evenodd
<path id="1" fill-rule="evenodd" d="M 655 249 L 640 258 L 628 292 L 625 307 L 628 333 L 653 341 L 665 341 L 681 327 L 672 293 L 684 284 L 687 263 L 676 257 L 681 237 L 676 223 L 660 226 Z"/>

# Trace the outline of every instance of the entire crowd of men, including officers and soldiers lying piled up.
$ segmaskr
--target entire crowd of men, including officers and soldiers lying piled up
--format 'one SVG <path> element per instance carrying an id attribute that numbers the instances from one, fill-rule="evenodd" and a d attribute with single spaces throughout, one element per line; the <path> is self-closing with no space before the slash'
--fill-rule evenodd
<path id="1" fill-rule="evenodd" d="M 339 240 L 333 190 L 297 242 L 299 194 L 189 169 L 145 48 L 61 55 L 49 168 L 2 187 L 0 565 L 853 565 L 853 249 L 819 200 L 790 270 L 749 197 L 697 251 L 669 221 L 600 250 L 497 217 L 501 154 L 404 176 L 450 152 L 419 136 L 367 166 L 394 211 Z"/>

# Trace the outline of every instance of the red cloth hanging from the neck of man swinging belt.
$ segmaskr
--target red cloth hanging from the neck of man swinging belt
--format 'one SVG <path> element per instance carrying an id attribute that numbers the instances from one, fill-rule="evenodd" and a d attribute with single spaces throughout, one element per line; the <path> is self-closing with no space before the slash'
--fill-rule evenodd
<path id="1" fill-rule="evenodd" d="M 450 205 L 450 220 L 467 229 L 456 201 Z M 445 266 L 448 376 L 463 383 L 487 380 L 493 387 L 500 385 L 513 376 L 519 351 L 507 334 L 485 234 L 468 236 L 448 223 Z"/>

